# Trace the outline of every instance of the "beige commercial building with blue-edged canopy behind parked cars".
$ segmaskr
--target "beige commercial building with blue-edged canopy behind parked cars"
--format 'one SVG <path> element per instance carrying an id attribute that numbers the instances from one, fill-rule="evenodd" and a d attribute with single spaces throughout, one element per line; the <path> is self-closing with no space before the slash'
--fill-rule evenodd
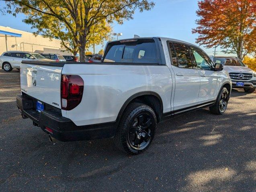
<path id="1" fill-rule="evenodd" d="M 44 38 L 41 35 L 0 26 L 0 55 L 6 51 L 27 51 L 37 53 L 55 53 L 72 55 L 61 52 L 61 40 Z"/>

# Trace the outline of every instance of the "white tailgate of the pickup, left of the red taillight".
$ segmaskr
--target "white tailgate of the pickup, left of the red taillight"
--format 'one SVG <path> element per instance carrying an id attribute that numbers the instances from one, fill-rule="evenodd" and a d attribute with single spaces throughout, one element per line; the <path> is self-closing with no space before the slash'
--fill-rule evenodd
<path id="1" fill-rule="evenodd" d="M 63 65 L 61 62 L 22 62 L 21 91 L 51 106 L 61 108 L 60 85 Z"/>

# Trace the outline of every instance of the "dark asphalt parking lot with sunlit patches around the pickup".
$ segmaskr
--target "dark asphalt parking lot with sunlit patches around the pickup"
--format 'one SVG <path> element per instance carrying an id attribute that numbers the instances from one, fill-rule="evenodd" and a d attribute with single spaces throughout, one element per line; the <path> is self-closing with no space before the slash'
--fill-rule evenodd
<path id="1" fill-rule="evenodd" d="M 0 191 L 256 191 L 256 93 L 232 90 L 225 114 L 202 109 L 158 125 L 128 156 L 112 139 L 49 142 L 16 107 L 19 72 L 0 70 Z"/>

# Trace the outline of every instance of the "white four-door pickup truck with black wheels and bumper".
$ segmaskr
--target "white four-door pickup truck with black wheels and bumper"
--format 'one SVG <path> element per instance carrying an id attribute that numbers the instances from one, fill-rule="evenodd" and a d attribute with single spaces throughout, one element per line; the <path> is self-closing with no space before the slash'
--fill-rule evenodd
<path id="1" fill-rule="evenodd" d="M 109 42 L 101 63 L 23 61 L 20 86 L 18 109 L 50 140 L 114 138 L 138 154 L 162 120 L 225 112 L 231 79 L 199 47 L 153 37 Z"/>

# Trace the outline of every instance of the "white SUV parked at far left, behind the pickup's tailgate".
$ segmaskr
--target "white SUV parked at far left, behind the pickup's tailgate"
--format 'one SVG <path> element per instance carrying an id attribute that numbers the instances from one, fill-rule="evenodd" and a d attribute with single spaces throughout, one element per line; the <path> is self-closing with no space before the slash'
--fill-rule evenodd
<path id="1" fill-rule="evenodd" d="M 10 72 L 13 68 L 19 69 L 21 61 L 23 60 L 41 60 L 53 61 L 41 56 L 38 53 L 24 52 L 24 51 L 7 51 L 0 56 L 0 65 L 2 69 Z"/>

